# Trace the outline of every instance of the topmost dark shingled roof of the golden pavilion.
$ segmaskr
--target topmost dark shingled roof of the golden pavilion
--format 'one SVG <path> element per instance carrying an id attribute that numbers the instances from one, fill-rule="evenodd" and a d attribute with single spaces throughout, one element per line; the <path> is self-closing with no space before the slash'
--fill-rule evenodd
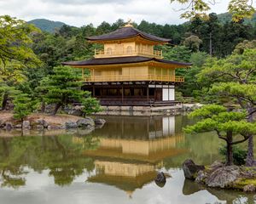
<path id="1" fill-rule="evenodd" d="M 108 41 L 108 40 L 122 40 L 126 38 L 137 37 L 137 36 L 143 37 L 147 40 L 154 41 L 154 42 L 161 42 L 161 43 L 171 42 L 171 39 L 156 37 L 146 32 L 139 31 L 132 26 L 121 27 L 116 31 L 109 32 L 108 34 L 103 34 L 101 36 L 94 36 L 94 37 L 86 37 L 86 39 L 90 41 Z"/>

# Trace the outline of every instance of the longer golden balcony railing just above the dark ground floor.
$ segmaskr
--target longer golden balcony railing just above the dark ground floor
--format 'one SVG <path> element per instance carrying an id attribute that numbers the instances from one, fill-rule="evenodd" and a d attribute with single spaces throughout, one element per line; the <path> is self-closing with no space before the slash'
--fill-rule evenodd
<path id="1" fill-rule="evenodd" d="M 167 75 L 104 75 L 84 77 L 85 82 L 133 82 L 133 81 L 158 81 L 158 82 L 184 82 L 184 77 Z"/>

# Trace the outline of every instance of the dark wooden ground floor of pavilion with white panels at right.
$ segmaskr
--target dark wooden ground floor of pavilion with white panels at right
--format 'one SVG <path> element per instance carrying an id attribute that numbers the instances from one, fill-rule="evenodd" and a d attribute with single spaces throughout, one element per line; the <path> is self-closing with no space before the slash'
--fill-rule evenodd
<path id="1" fill-rule="evenodd" d="M 84 90 L 101 105 L 175 105 L 174 86 L 160 84 L 87 84 Z"/>

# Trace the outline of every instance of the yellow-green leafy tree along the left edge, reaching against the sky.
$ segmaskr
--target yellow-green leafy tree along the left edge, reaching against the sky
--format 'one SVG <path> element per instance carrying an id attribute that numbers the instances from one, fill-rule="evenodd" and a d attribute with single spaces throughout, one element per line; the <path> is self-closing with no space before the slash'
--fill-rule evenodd
<path id="1" fill-rule="evenodd" d="M 40 65 L 40 60 L 33 53 L 32 33 L 38 30 L 23 20 L 0 16 L 0 84 L 4 110 L 13 93 L 15 85 L 24 81 L 27 67 Z"/>

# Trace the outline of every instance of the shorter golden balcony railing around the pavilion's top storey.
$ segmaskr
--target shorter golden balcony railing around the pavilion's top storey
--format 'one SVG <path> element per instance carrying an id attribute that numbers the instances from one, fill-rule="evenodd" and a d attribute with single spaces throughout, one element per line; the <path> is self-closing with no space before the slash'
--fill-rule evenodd
<path id="1" fill-rule="evenodd" d="M 162 50 L 96 50 L 95 49 L 95 58 L 108 58 L 108 57 L 127 57 L 127 56 L 144 56 L 144 57 L 154 57 L 154 58 L 163 58 Z"/>

